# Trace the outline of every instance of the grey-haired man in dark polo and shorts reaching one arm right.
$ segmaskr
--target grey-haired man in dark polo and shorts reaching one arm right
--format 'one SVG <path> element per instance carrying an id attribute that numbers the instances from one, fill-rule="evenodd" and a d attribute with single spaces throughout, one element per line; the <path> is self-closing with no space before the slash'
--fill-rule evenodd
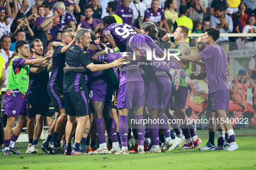
<path id="1" fill-rule="evenodd" d="M 109 69 L 111 67 L 120 66 L 124 59 L 120 58 L 109 64 L 94 64 L 87 51 L 84 48 L 89 47 L 91 35 L 87 29 L 80 29 L 77 32 L 76 43 L 71 45 L 66 53 L 65 63 L 71 67 L 83 66 L 92 72 Z M 86 127 L 86 133 L 90 130 L 89 114 L 91 114 L 89 106 L 88 89 L 86 86 L 89 72 L 71 71 L 64 74 L 63 92 L 65 95 L 65 110 L 68 115 L 66 125 L 66 148 L 65 155 L 84 155 L 80 150 L 80 141 Z M 77 123 L 76 129 L 73 128 Z M 75 132 L 75 142 L 73 150 L 71 150 L 71 138 Z"/>

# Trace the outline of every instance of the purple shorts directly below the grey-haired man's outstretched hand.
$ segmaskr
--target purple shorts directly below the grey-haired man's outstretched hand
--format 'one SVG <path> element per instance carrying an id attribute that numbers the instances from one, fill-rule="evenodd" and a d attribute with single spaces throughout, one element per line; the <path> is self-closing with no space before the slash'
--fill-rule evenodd
<path id="1" fill-rule="evenodd" d="M 117 94 L 117 108 L 131 109 L 145 104 L 144 82 L 126 82 L 120 85 Z"/>

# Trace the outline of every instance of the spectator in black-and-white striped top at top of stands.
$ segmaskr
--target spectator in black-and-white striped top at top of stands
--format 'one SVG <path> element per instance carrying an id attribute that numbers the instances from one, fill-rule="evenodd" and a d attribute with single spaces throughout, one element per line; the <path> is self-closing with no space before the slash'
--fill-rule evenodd
<path id="1" fill-rule="evenodd" d="M 201 4 L 200 0 L 192 0 L 192 6 L 187 9 L 187 15 L 192 21 L 203 22 L 203 15 L 206 13 L 206 9 Z"/>

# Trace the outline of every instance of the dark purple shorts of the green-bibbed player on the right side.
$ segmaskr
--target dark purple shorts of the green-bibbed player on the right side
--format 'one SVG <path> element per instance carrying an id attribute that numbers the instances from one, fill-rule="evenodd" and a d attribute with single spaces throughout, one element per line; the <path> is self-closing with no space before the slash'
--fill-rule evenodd
<path id="1" fill-rule="evenodd" d="M 170 109 L 175 110 L 177 108 L 185 109 L 188 95 L 188 86 L 179 86 L 178 90 L 175 90 L 172 85 L 172 93 L 170 98 Z"/>

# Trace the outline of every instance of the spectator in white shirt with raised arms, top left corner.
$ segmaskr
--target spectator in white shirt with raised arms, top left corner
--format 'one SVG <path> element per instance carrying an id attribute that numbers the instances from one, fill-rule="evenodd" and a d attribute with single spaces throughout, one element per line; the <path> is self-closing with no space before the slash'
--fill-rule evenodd
<path id="1" fill-rule="evenodd" d="M 9 8 L 8 9 L 9 11 L 11 11 L 9 3 L 10 3 L 10 0 L 6 0 L 6 7 L 7 9 Z M 15 9 L 14 12 L 8 18 L 5 18 L 6 9 L 3 6 L 0 6 L 0 37 L 2 37 L 2 35 L 9 35 L 10 27 L 18 13 L 17 3 L 14 3 L 14 9 Z"/>

